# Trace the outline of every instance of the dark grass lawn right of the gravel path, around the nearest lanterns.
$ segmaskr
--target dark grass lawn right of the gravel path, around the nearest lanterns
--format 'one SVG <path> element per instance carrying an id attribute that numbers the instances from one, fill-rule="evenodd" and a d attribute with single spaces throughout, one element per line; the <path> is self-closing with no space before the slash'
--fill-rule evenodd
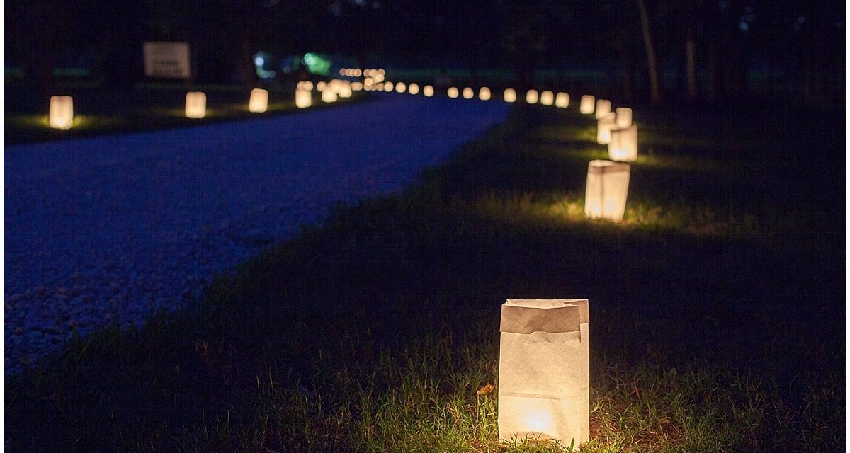
<path id="1" fill-rule="evenodd" d="M 635 109 L 608 224 L 582 213 L 594 122 L 517 105 L 184 312 L 7 377 L 7 450 L 563 450 L 498 444 L 508 297 L 590 299 L 584 451 L 844 450 L 844 127 L 796 113 Z"/>

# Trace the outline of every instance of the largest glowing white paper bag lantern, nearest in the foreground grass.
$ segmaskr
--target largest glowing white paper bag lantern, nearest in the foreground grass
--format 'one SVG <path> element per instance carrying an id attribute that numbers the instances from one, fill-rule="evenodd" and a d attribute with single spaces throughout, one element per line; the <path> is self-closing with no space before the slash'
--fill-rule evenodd
<path id="1" fill-rule="evenodd" d="M 508 299 L 501 306 L 499 439 L 590 439 L 587 299 Z"/>

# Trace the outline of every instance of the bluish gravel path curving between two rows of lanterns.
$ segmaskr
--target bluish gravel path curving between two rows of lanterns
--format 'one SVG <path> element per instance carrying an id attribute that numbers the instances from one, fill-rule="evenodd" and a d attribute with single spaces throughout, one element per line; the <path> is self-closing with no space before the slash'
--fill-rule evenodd
<path id="1" fill-rule="evenodd" d="M 138 325 L 326 215 L 386 194 L 504 120 L 496 102 L 387 93 L 249 122 L 4 150 L 4 370 Z"/>

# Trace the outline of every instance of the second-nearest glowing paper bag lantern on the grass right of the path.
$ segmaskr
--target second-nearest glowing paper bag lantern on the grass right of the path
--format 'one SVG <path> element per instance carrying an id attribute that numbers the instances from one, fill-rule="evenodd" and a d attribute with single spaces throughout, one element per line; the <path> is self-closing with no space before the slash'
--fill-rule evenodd
<path id="1" fill-rule="evenodd" d="M 585 216 L 619 223 L 626 213 L 632 166 L 623 162 L 594 160 L 587 164 Z"/>

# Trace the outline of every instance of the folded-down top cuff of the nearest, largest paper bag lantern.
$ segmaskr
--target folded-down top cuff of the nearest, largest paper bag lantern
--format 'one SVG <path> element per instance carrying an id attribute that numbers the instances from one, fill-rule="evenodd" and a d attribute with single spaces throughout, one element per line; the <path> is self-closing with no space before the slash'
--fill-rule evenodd
<path id="1" fill-rule="evenodd" d="M 508 299 L 501 306 L 500 331 L 580 331 L 590 321 L 587 299 Z"/>

